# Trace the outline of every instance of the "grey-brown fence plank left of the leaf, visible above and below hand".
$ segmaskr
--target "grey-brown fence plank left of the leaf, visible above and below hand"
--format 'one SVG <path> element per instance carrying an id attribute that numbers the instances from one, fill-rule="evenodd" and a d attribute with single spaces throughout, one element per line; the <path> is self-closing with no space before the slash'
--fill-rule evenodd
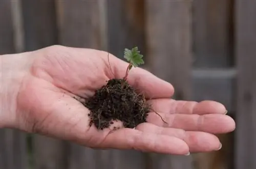
<path id="1" fill-rule="evenodd" d="M 104 13 L 101 15 L 99 13 L 99 7 L 105 8 L 104 3 L 66 0 L 56 1 L 56 5 L 59 44 L 71 47 L 106 49 L 106 39 L 101 41 L 104 30 L 100 29 L 101 22 L 99 22 L 102 21 L 101 19 L 104 21 L 102 18 Z M 94 169 L 99 168 L 99 165 L 102 165 L 103 168 L 113 168 L 110 167 L 110 154 L 111 151 L 103 154 L 100 150 L 70 144 L 68 168 Z"/>

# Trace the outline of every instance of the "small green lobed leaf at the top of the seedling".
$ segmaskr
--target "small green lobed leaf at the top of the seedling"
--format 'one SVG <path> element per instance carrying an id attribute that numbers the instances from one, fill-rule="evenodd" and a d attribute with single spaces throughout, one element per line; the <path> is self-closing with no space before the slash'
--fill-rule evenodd
<path id="1" fill-rule="evenodd" d="M 124 49 L 124 58 L 130 62 L 134 67 L 138 67 L 141 64 L 144 64 L 143 55 L 140 54 L 138 47 L 132 48 L 132 50 L 125 48 Z"/>

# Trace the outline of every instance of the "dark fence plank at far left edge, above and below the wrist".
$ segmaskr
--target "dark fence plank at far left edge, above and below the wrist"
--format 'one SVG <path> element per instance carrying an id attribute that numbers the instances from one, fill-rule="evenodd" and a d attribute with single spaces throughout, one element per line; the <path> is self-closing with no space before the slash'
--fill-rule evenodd
<path id="1" fill-rule="evenodd" d="M 13 3 L 9 0 L 0 1 L 0 54 L 17 52 Z M 26 157 L 26 134 L 13 129 L 0 129 L 0 168 L 25 169 Z"/>

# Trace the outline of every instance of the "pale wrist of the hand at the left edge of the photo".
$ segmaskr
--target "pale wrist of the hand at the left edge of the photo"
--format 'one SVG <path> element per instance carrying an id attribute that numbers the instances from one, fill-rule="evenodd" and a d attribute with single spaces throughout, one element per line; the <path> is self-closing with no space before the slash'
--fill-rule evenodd
<path id="1" fill-rule="evenodd" d="M 0 55 L 0 128 L 13 128 L 17 120 L 17 95 L 28 72 L 26 53 Z"/>

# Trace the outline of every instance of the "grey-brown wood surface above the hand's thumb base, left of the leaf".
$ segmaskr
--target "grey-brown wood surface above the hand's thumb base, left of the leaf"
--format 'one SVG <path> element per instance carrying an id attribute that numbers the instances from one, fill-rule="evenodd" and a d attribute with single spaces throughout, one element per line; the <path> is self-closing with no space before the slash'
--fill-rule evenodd
<path id="1" fill-rule="evenodd" d="M 71 47 L 101 47 L 99 2 L 56 1 L 59 43 Z"/>

